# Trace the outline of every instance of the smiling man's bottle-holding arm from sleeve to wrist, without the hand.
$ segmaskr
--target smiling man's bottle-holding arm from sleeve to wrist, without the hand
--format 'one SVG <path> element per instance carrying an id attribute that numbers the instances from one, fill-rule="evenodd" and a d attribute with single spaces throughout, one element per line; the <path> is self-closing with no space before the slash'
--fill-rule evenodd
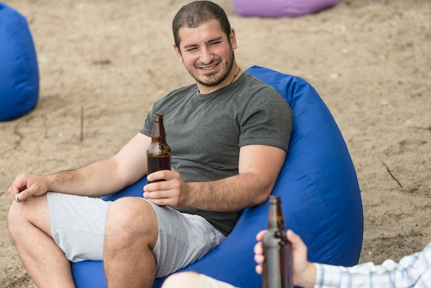
<path id="1" fill-rule="evenodd" d="M 286 152 L 277 147 L 241 147 L 239 174 L 219 181 L 189 183 L 189 206 L 230 212 L 261 205 L 271 194 L 285 158 Z"/>

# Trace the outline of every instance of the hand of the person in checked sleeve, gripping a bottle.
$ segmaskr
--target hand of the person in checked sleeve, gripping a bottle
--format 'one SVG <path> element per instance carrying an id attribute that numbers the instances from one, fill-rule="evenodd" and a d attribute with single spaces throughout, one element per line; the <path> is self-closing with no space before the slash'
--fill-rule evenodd
<path id="1" fill-rule="evenodd" d="M 255 270 L 257 274 L 262 274 L 264 258 L 264 249 L 262 247 L 262 239 L 266 234 L 266 230 L 257 233 L 256 240 L 259 241 L 255 247 L 255 262 L 257 263 Z M 316 277 L 316 269 L 313 263 L 307 260 L 307 247 L 299 237 L 292 230 L 287 230 L 287 239 L 292 244 L 292 271 L 293 271 L 293 284 L 302 287 L 313 287 Z"/>

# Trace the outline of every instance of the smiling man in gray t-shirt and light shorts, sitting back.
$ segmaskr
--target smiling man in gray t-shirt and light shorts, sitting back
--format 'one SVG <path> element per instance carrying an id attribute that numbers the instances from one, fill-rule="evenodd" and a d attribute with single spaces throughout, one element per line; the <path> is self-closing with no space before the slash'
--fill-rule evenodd
<path id="1" fill-rule="evenodd" d="M 8 227 L 39 287 L 74 287 L 69 261 L 103 260 L 109 287 L 151 287 L 198 260 L 246 207 L 271 194 L 293 114 L 273 88 L 235 62 L 235 30 L 220 6 L 195 1 L 172 23 L 174 50 L 196 84 L 154 104 L 115 156 L 48 176 L 21 174 Z M 143 198 L 105 202 L 147 173 L 153 114 L 164 116 L 172 170 L 148 175 Z"/>

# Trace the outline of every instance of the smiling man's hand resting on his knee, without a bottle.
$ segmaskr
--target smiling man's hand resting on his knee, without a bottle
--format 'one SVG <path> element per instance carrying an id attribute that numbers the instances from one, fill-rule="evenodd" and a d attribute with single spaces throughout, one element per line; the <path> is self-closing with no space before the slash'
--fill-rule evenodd
<path id="1" fill-rule="evenodd" d="M 17 202 L 25 201 L 30 196 L 41 196 L 48 191 L 48 183 L 43 176 L 19 174 L 8 192 Z"/>

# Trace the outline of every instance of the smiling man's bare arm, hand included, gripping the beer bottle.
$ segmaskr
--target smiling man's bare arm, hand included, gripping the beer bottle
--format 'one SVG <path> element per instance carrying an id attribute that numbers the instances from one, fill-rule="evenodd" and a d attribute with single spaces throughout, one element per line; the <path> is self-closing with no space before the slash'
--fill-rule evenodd
<path id="1" fill-rule="evenodd" d="M 150 177 L 168 181 L 145 186 L 144 196 L 158 205 L 236 211 L 260 205 L 269 197 L 286 152 L 267 145 L 240 149 L 239 174 L 219 181 L 184 183 L 176 172 L 159 171 Z"/>

